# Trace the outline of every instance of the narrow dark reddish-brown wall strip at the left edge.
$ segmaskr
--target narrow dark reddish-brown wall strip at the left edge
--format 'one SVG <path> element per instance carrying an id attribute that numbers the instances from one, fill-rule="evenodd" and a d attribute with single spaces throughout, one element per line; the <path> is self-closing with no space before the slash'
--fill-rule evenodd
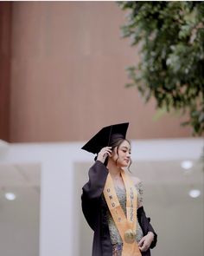
<path id="1" fill-rule="evenodd" d="M 11 3 L 0 2 L 0 140 L 10 138 Z"/>

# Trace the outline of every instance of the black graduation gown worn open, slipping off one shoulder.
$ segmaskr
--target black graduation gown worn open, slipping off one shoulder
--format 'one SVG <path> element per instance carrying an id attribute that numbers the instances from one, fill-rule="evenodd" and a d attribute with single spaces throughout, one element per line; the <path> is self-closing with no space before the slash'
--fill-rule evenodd
<path id="1" fill-rule="evenodd" d="M 102 199 L 108 169 L 101 161 L 95 161 L 89 169 L 89 181 L 82 188 L 82 211 L 87 223 L 94 232 L 92 256 L 112 256 L 112 243 L 107 223 L 107 205 Z M 143 235 L 149 231 L 155 234 L 150 248 L 156 246 L 157 235 L 150 225 L 150 218 L 146 217 L 143 207 L 137 209 L 137 219 L 143 229 Z M 143 256 L 150 256 L 150 248 L 143 252 Z"/>

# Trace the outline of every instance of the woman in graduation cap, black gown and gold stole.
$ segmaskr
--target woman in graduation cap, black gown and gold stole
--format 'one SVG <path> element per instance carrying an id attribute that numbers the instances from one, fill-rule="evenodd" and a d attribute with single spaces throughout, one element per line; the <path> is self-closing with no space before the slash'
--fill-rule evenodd
<path id="1" fill-rule="evenodd" d="M 150 256 L 156 246 L 157 235 L 143 210 L 142 183 L 124 172 L 131 165 L 128 125 L 103 128 L 83 147 L 97 153 L 81 196 L 94 232 L 92 256 Z"/>

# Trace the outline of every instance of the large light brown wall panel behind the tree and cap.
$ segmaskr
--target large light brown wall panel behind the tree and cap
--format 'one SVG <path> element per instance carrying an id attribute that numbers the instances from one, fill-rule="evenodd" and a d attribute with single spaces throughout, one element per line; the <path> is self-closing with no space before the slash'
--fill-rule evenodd
<path id="1" fill-rule="evenodd" d="M 137 50 L 123 23 L 115 2 L 13 3 L 10 141 L 86 140 L 123 121 L 131 139 L 190 136 L 178 117 L 153 121 L 155 103 L 124 88 Z"/>

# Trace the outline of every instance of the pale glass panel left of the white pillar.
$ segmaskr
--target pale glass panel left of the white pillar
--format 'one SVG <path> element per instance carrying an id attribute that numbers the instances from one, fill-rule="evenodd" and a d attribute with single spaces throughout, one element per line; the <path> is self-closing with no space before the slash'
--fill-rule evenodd
<path id="1" fill-rule="evenodd" d="M 1 255 L 39 255 L 40 180 L 39 164 L 0 165 Z"/>

